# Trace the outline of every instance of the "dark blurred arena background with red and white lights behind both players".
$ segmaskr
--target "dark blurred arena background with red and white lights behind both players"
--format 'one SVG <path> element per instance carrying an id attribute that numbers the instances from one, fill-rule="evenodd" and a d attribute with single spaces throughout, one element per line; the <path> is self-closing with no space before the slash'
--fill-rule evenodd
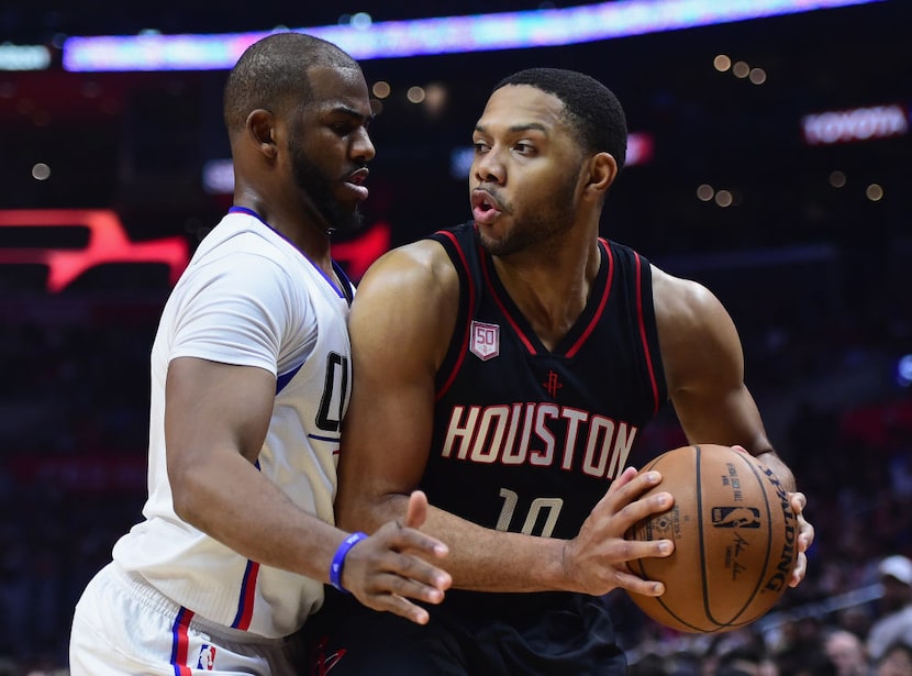
<path id="1" fill-rule="evenodd" d="M 231 203 L 226 69 L 110 70 L 108 52 L 77 70 L 74 38 L 341 26 L 369 46 L 385 22 L 582 5 L 137 4 L 0 8 L 0 674 L 66 669 L 73 605 L 145 497 L 158 312 Z M 704 24 L 722 3 L 680 0 L 694 25 L 675 30 L 649 14 L 674 1 L 590 4 L 641 5 L 652 30 L 362 58 L 378 154 L 368 228 L 337 256 L 357 278 L 390 246 L 469 218 L 470 131 L 500 77 L 559 66 L 604 81 L 632 156 L 603 234 L 729 307 L 747 384 L 809 495 L 808 580 L 754 632 L 779 651 L 823 651 L 835 628 L 864 636 L 882 610 L 878 561 L 912 555 L 912 3 L 755 2 L 792 10 Z M 457 38 L 471 49 L 478 35 Z M 668 411 L 638 448 L 682 441 Z M 756 639 L 687 641 L 608 602 L 634 662 Z"/>

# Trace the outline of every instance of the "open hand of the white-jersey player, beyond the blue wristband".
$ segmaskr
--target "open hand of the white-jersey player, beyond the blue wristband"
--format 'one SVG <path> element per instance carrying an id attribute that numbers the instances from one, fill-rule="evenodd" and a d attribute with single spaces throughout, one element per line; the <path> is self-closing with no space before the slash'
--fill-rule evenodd
<path id="1" fill-rule="evenodd" d="M 408 599 L 440 603 L 453 584 L 451 575 L 427 559 L 441 559 L 449 548 L 418 529 L 427 517 L 427 497 L 409 497 L 405 523 L 390 521 L 348 552 L 342 584 L 362 603 L 426 624 L 427 610 Z"/>

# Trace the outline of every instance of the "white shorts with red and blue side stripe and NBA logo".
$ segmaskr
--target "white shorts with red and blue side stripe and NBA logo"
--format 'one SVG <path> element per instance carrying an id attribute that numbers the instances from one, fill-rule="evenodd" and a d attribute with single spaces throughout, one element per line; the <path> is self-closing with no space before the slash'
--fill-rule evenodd
<path id="1" fill-rule="evenodd" d="M 71 676 L 292 676 L 283 646 L 194 617 L 111 563 L 76 605 L 69 667 Z"/>

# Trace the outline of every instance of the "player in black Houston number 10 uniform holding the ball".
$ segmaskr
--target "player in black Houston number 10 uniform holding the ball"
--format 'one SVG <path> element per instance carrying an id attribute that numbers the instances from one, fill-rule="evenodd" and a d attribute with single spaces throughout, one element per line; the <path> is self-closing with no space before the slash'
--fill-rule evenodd
<path id="1" fill-rule="evenodd" d="M 660 595 L 627 563 L 671 505 L 634 466 L 668 400 L 691 443 L 739 444 L 794 489 L 744 384 L 735 326 L 696 282 L 600 239 L 624 163 L 603 85 L 531 69 L 493 90 L 472 135 L 472 221 L 382 257 L 351 315 L 354 389 L 340 525 L 371 531 L 422 488 L 453 589 L 426 627 L 327 596 L 312 673 L 623 674 L 612 589 Z M 797 512 L 804 496 L 791 494 Z M 804 576 L 813 529 L 799 518 Z"/>

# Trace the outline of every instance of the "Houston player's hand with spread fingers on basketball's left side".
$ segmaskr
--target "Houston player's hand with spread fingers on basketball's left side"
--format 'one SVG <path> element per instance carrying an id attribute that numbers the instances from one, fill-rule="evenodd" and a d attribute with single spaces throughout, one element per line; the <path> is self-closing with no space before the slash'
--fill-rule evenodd
<path id="1" fill-rule="evenodd" d="M 578 581 L 578 591 L 601 596 L 622 587 L 643 596 L 660 596 L 661 583 L 645 580 L 631 573 L 627 562 L 645 556 L 669 556 L 670 540 L 639 542 L 626 540 L 627 531 L 649 514 L 668 510 L 669 492 L 641 496 L 659 484 L 658 472 L 637 473 L 627 467 L 614 479 L 605 496 L 582 523 L 579 534 L 568 540 L 564 551 L 565 574 Z"/>

